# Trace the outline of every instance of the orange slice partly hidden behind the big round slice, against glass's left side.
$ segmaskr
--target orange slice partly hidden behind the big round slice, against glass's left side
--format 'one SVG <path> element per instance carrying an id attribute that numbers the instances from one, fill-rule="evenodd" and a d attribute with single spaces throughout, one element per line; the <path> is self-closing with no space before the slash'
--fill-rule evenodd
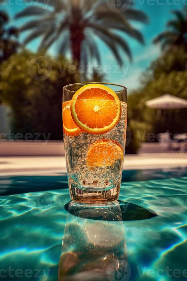
<path id="1" fill-rule="evenodd" d="M 82 133 L 82 130 L 73 121 L 70 106 L 71 101 L 62 104 L 63 133 L 67 136 L 77 136 Z"/>

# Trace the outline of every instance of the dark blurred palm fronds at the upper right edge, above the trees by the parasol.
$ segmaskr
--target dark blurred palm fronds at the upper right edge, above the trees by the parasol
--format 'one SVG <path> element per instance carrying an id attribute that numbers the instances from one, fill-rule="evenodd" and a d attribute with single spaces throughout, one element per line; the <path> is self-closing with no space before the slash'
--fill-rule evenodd
<path id="1" fill-rule="evenodd" d="M 187 51 L 187 8 L 183 11 L 172 11 L 176 19 L 167 23 L 168 30 L 159 34 L 154 43 L 160 42 L 162 49 L 171 49 L 173 47 L 184 47 Z"/>

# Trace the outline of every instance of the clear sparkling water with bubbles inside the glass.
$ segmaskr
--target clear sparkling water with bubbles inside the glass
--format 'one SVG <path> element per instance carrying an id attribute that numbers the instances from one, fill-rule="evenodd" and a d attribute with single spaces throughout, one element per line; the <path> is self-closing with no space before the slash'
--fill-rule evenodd
<path id="1" fill-rule="evenodd" d="M 120 120 L 109 132 L 98 135 L 83 132 L 77 136 L 66 136 L 64 134 L 67 174 L 71 183 L 83 189 L 103 189 L 103 187 L 110 189 L 121 181 L 123 158 L 116 160 L 113 165 L 94 168 L 90 168 L 86 161 L 87 152 L 91 145 L 101 139 L 111 139 L 118 142 L 124 153 L 127 104 L 125 102 L 120 103 L 122 107 Z"/>

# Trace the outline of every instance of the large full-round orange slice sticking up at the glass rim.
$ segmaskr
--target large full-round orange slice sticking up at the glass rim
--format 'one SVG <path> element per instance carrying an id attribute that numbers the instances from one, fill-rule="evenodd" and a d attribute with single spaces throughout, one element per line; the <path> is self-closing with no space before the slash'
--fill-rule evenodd
<path id="1" fill-rule="evenodd" d="M 114 91 L 100 84 L 81 87 L 71 100 L 75 124 L 89 134 L 104 134 L 118 124 L 121 102 Z"/>

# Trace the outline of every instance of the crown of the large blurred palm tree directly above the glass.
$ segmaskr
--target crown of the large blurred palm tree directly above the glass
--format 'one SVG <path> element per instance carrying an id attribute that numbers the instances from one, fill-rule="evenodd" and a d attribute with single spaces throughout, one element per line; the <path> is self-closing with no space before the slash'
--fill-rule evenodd
<path id="1" fill-rule="evenodd" d="M 39 3 L 43 3 L 43 0 L 39 0 Z M 110 48 L 118 63 L 123 62 L 118 47 L 132 59 L 128 43 L 119 32 L 143 44 L 141 32 L 133 28 L 129 21 L 145 23 L 148 20 L 144 12 L 131 7 L 124 13 L 115 13 L 103 0 L 50 0 L 47 9 L 37 5 L 27 7 L 17 13 L 16 18 L 26 16 L 37 18 L 20 28 L 20 31 L 31 31 L 24 44 L 42 36 L 39 50 L 47 50 L 57 42 L 57 52 L 65 54 L 67 49 L 71 50 L 73 61 L 78 64 L 86 64 L 89 57 L 101 62 L 95 36 Z"/>

